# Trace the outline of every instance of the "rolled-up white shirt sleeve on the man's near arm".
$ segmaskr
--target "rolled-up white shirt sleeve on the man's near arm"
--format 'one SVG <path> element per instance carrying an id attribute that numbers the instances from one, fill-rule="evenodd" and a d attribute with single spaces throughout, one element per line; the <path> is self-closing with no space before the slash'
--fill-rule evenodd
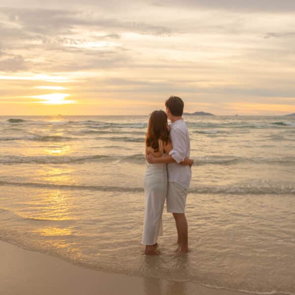
<path id="1" fill-rule="evenodd" d="M 179 164 L 185 158 L 185 147 L 186 147 L 186 134 L 181 129 L 175 129 L 171 132 L 171 141 L 173 145 L 173 149 L 169 152 L 169 154 L 176 160 Z"/>

